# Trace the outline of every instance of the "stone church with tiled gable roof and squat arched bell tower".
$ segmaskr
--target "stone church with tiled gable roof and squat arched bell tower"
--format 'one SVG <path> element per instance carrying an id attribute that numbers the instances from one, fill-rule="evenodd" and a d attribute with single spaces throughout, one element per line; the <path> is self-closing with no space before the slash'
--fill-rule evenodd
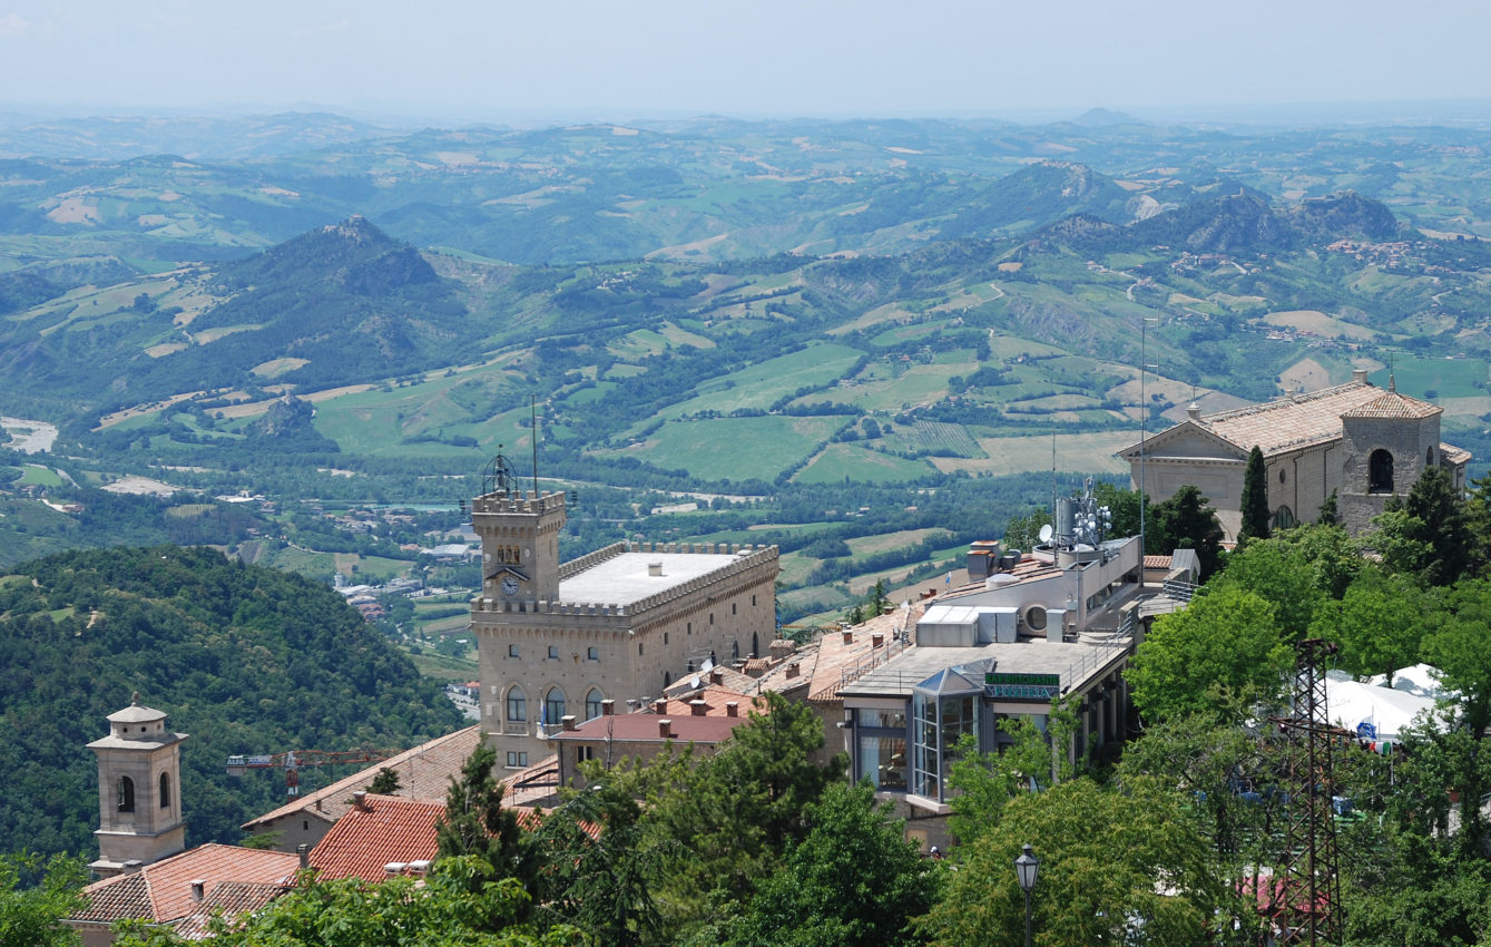
<path id="1" fill-rule="evenodd" d="M 1154 503 L 1185 485 L 1200 488 L 1227 541 L 1242 526 L 1242 477 L 1254 446 L 1263 452 L 1275 528 L 1317 519 L 1334 492 L 1337 522 L 1366 532 L 1388 498 L 1406 497 L 1428 467 L 1446 468 L 1464 489 L 1470 453 L 1439 440 L 1443 409 L 1399 394 L 1391 382 L 1384 391 L 1364 370 L 1334 388 L 1217 415 L 1193 404 L 1187 415 L 1118 456 Z"/>

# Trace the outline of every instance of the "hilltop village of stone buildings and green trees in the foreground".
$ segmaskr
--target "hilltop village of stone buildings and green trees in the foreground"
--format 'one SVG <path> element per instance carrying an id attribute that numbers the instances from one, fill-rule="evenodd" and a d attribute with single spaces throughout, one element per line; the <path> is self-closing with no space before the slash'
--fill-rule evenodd
<path id="1" fill-rule="evenodd" d="M 1488 820 L 1454 734 L 1479 741 L 1491 719 L 1473 690 L 1491 673 L 1473 579 L 1491 523 L 1439 415 L 1361 376 L 1193 406 L 1121 452 L 1153 504 L 1114 509 L 1099 495 L 1138 494 L 1088 480 L 1030 549 L 975 541 L 959 583 L 877 592 L 871 617 L 804 641 L 778 634 L 775 547 L 628 541 L 561 561 L 568 494 L 523 489 L 499 456 L 470 504 L 479 723 L 292 790 L 242 846 L 186 847 L 191 735 L 136 695 L 86 747 L 97 880 L 64 922 L 86 944 L 136 943 L 121 922 L 259 943 L 255 925 L 337 880 L 353 886 L 325 890 L 434 911 L 476 856 L 517 883 L 483 922 L 516 938 L 680 943 L 720 923 L 695 901 L 714 890 L 738 911 L 722 943 L 798 943 L 822 923 L 838 943 L 966 943 L 1012 923 L 1023 846 L 1053 892 L 1090 881 L 1084 859 L 1127 872 L 1081 937 L 1388 925 L 1372 919 L 1390 893 L 1351 863 L 1381 844 L 1373 825 L 1460 844 Z M 1148 523 L 1129 532 L 1138 510 Z M 711 835 L 722 819 L 731 838 Z M 1282 846 L 1270 820 L 1291 826 Z M 1127 850 L 1079 829 L 1102 822 L 1133 832 Z M 647 868 L 669 832 L 696 862 Z M 832 887 L 835 846 L 875 883 Z M 714 874 L 726 865 L 746 874 Z M 969 913 L 990 899 L 993 916 Z M 1072 910 L 1048 893 L 1041 923 Z"/>

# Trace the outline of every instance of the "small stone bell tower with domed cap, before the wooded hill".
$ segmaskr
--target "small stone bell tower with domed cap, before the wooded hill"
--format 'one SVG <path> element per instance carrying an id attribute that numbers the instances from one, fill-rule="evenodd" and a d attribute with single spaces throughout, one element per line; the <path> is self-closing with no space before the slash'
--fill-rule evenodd
<path id="1" fill-rule="evenodd" d="M 88 749 L 98 755 L 98 861 L 112 877 L 158 862 L 186 847 L 182 817 L 182 743 L 166 729 L 166 713 L 140 705 L 140 695 L 109 714 L 109 735 Z"/>

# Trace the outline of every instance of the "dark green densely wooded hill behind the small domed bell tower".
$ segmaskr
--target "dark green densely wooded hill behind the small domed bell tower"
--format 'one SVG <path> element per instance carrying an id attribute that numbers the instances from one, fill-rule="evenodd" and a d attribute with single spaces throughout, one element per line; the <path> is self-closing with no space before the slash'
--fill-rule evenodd
<path id="1" fill-rule="evenodd" d="M 341 598 L 210 549 L 60 553 L 0 577 L 0 846 L 95 852 L 104 717 L 142 701 L 191 734 L 186 841 L 234 841 L 283 802 L 283 778 L 231 780 L 231 753 L 413 746 L 461 725 Z M 307 771 L 324 784 L 327 771 Z"/>

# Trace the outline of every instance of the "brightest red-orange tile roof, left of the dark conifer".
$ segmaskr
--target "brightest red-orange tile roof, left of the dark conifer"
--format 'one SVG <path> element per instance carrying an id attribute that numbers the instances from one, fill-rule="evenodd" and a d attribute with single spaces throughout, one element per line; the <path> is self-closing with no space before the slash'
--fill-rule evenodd
<path id="1" fill-rule="evenodd" d="M 319 877 L 382 881 L 389 862 L 435 858 L 435 823 L 446 814 L 444 802 L 368 793 L 362 804 L 349 807 L 310 850 L 310 866 Z"/>

